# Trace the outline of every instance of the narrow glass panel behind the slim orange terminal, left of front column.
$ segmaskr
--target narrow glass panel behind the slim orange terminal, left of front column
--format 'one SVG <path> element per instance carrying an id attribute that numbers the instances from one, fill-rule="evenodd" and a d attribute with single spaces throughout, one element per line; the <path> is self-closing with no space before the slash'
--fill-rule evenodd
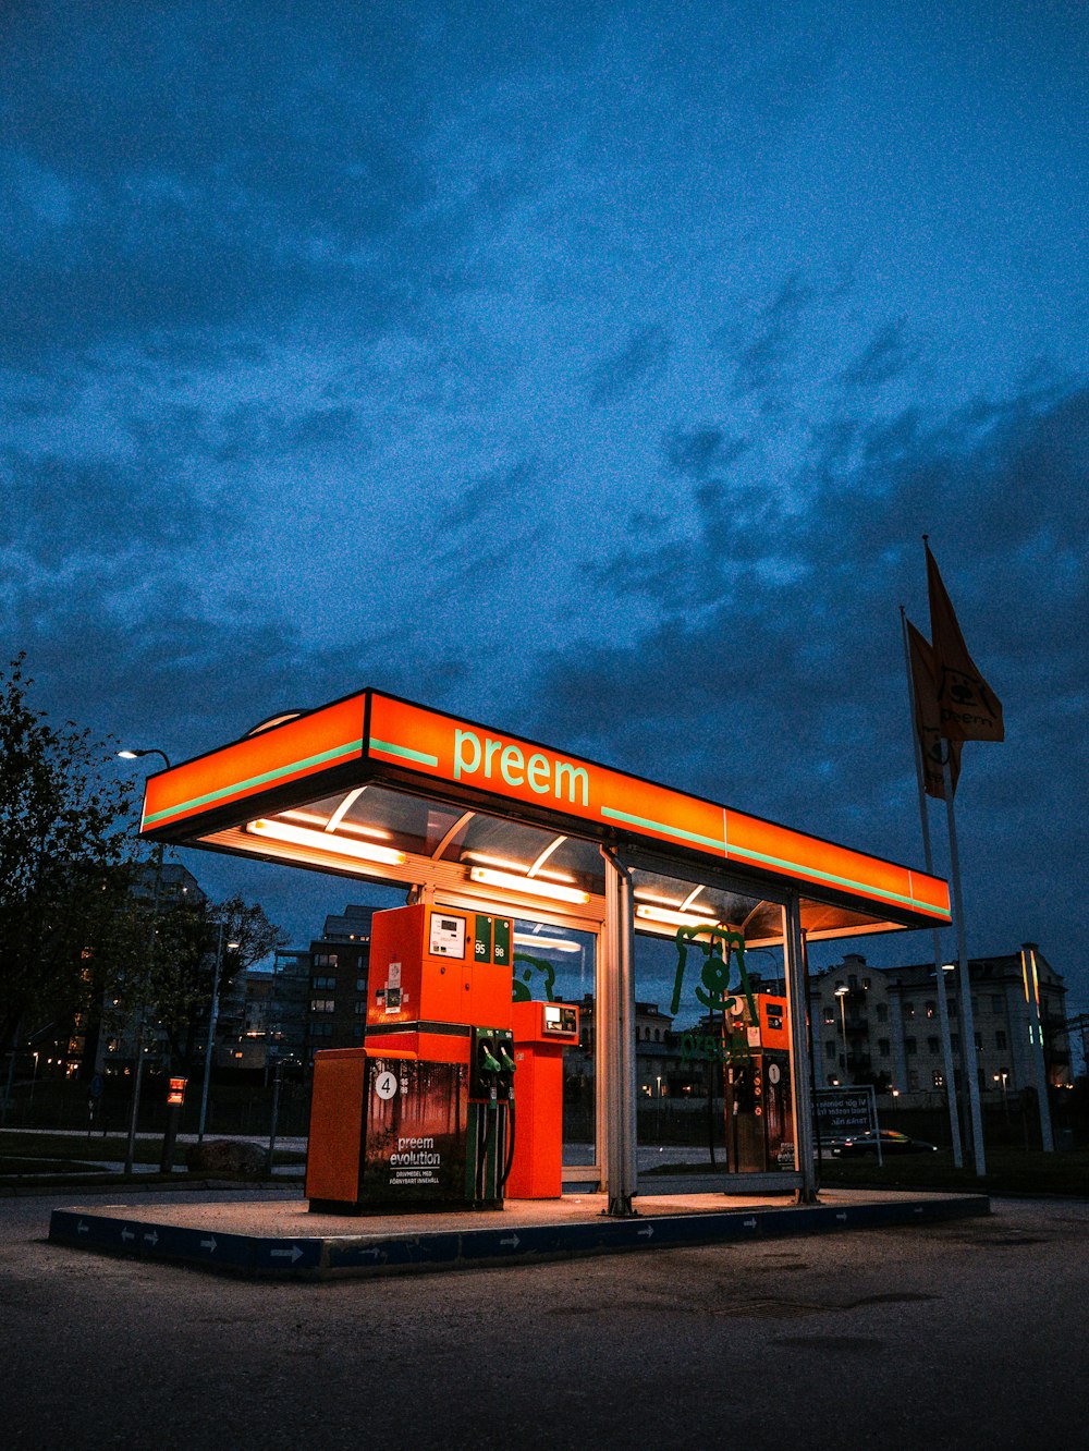
<path id="1" fill-rule="evenodd" d="M 515 918 L 515 1001 L 576 1003 L 579 1046 L 563 1055 L 564 1165 L 596 1162 L 593 1008 L 596 948 L 592 932 Z"/>

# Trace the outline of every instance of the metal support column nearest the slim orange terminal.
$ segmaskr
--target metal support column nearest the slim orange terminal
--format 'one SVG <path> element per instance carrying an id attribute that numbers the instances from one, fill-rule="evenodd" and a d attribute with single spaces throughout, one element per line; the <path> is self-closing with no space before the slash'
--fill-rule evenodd
<path id="1" fill-rule="evenodd" d="M 597 1093 L 603 1103 L 605 1188 L 608 1214 L 635 1213 L 635 942 L 631 872 L 615 853 L 605 858 L 605 982 L 599 1011 L 603 1077 Z M 600 1152 L 600 1145 L 599 1145 Z"/>

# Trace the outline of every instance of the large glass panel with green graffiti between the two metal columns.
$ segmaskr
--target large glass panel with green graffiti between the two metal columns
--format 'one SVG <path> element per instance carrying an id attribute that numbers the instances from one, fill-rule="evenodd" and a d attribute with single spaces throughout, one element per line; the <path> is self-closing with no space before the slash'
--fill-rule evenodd
<path id="1" fill-rule="evenodd" d="M 644 1193 L 793 1170 L 783 908 L 641 871 L 634 895 Z"/>

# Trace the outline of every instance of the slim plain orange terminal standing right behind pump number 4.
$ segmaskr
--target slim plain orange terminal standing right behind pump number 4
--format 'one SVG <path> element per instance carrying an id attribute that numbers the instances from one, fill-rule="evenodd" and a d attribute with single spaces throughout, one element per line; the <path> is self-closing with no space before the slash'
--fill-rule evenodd
<path id="1" fill-rule="evenodd" d="M 506 1181 L 510 1199 L 558 1199 L 563 1188 L 564 1048 L 579 1042 L 570 1003 L 515 1003 L 518 1138 Z"/>

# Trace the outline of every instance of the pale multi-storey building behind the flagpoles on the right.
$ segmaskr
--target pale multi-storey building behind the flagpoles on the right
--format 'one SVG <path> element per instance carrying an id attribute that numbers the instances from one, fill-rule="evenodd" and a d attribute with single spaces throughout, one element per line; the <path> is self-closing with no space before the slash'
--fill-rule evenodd
<path id="1" fill-rule="evenodd" d="M 1066 985 L 1038 948 L 1040 1013 L 1047 1082 L 1069 1087 L 1070 1045 Z M 954 1085 L 961 1087 L 960 1003 L 956 969 L 945 972 Z M 972 1016 L 979 1087 L 993 1101 L 1035 1087 L 1034 1048 L 1022 953 L 972 958 Z M 809 988 L 813 1066 L 818 1084 L 873 1084 L 900 1107 L 945 1100 L 941 1019 L 932 962 L 876 968 L 848 952 L 813 977 Z"/>

